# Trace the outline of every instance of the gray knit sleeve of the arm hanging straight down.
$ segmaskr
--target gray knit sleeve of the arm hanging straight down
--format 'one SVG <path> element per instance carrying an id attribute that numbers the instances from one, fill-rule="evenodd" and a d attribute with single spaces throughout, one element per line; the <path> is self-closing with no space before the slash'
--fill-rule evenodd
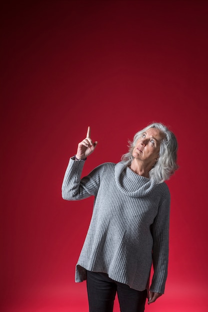
<path id="1" fill-rule="evenodd" d="M 150 291 L 164 294 L 168 274 L 170 193 L 159 207 L 152 226 L 154 275 Z"/>

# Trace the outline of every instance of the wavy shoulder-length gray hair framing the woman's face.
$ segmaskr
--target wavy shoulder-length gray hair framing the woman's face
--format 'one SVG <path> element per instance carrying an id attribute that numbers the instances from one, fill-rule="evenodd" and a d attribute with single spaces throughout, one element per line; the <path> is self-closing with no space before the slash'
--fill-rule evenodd
<path id="1" fill-rule="evenodd" d="M 129 161 L 130 163 L 132 162 L 134 159 L 132 152 L 137 140 L 150 128 L 157 128 L 165 135 L 165 138 L 161 141 L 159 158 L 154 167 L 149 172 L 150 179 L 154 179 L 158 184 L 168 180 L 170 176 L 178 169 L 177 139 L 173 132 L 171 132 L 166 126 L 161 123 L 153 123 L 143 130 L 137 132 L 134 136 L 133 142 L 129 142 L 129 152 L 122 156 L 122 160 Z"/>

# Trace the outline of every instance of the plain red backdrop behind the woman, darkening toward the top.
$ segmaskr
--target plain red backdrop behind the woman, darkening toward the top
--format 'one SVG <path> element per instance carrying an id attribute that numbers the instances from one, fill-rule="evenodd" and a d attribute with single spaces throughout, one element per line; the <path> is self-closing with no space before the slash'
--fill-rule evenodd
<path id="1" fill-rule="evenodd" d="M 93 199 L 61 198 L 68 159 L 90 125 L 84 173 L 118 162 L 152 121 L 176 134 L 180 169 L 166 294 L 146 311 L 207 311 L 208 2 L 4 2 L 1 311 L 88 311 L 74 267 Z"/>

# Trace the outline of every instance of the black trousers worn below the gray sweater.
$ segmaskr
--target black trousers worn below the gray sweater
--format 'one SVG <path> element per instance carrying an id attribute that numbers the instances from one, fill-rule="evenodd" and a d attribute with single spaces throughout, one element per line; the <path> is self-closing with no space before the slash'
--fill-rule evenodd
<path id="1" fill-rule="evenodd" d="M 142 292 L 113 281 L 105 273 L 87 271 L 89 312 L 113 312 L 116 293 L 121 312 L 144 312 L 147 290 Z"/>

